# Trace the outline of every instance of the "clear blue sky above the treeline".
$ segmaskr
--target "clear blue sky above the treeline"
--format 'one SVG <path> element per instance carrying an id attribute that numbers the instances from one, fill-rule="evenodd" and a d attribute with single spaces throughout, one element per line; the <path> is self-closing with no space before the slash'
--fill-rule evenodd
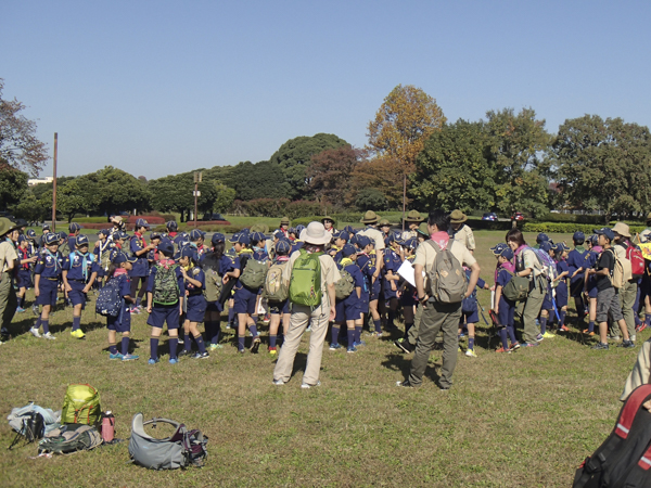
<path id="1" fill-rule="evenodd" d="M 331 132 L 356 146 L 398 84 L 446 117 L 533 107 L 651 125 L 651 3 L 29 1 L 0 7 L 0 77 L 60 175 L 148 178 L 268 159 Z M 49 175 L 51 166 L 42 175 Z"/>

